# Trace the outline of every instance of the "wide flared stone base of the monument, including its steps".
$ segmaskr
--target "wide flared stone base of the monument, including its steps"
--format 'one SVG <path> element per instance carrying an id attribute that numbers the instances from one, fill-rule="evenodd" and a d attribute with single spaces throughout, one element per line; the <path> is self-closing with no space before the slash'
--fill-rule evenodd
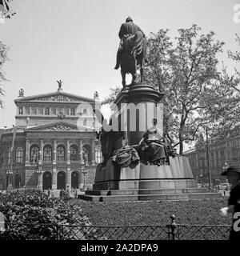
<path id="1" fill-rule="evenodd" d="M 188 159 L 183 156 L 170 158 L 170 165 L 147 166 L 139 163 L 134 169 L 120 169 L 109 160 L 105 167 L 97 168 L 93 190 L 78 196 L 83 200 L 100 202 L 221 197 L 221 193 L 197 187 Z"/>

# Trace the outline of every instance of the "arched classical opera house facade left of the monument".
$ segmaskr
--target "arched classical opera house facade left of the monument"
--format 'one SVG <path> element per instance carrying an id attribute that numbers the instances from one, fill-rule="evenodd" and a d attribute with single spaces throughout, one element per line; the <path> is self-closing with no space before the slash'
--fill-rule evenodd
<path id="1" fill-rule="evenodd" d="M 81 188 L 94 182 L 102 162 L 94 118 L 98 94 L 85 98 L 62 91 L 14 100 L 15 126 L 1 130 L 0 186 Z"/>

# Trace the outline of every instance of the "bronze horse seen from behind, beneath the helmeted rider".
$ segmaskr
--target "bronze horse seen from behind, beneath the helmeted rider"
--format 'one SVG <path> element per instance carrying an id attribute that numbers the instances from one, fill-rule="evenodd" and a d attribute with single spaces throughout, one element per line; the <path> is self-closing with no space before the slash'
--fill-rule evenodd
<path id="1" fill-rule="evenodd" d="M 138 31 L 124 41 L 120 66 L 122 86 L 126 86 L 126 74 L 132 75 L 131 85 L 136 84 L 137 67 L 140 66 L 141 82 L 143 82 L 143 66 L 146 57 L 146 40 Z"/>

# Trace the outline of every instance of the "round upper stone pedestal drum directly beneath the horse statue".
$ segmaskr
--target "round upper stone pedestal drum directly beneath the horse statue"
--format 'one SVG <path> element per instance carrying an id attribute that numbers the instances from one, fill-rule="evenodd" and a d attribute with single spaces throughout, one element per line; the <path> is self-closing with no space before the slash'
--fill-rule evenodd
<path id="1" fill-rule="evenodd" d="M 126 136 L 129 145 L 137 145 L 142 135 L 153 126 L 153 118 L 158 120 L 158 128 L 163 130 L 164 94 L 152 86 L 137 84 L 126 86 L 114 101 L 118 108 L 112 118 L 118 117 L 118 130 L 114 131 L 115 147 L 121 147 L 122 137 Z"/>

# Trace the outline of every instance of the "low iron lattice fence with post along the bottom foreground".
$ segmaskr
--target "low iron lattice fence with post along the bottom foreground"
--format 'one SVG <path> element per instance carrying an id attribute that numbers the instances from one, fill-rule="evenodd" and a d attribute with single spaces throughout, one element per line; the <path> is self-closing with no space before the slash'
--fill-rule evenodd
<path id="1" fill-rule="evenodd" d="M 6 223 L 5 240 L 226 240 L 231 226 L 182 225 L 171 216 L 168 225 L 81 226 Z"/>

